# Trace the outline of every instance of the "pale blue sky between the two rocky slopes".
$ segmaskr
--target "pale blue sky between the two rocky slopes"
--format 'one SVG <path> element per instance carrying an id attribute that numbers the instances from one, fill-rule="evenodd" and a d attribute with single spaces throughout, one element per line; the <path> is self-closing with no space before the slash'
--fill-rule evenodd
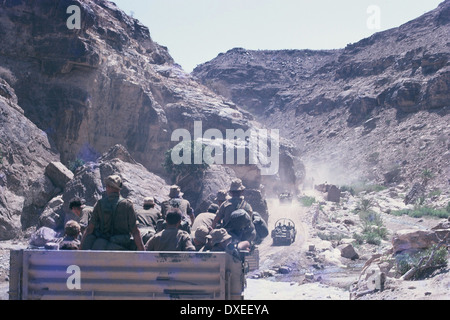
<path id="1" fill-rule="evenodd" d="M 113 0 L 187 72 L 235 47 L 337 49 L 398 27 L 443 0 Z M 368 12 L 370 6 L 379 8 Z M 376 18 L 379 17 L 378 20 Z M 379 21 L 380 29 L 369 24 Z"/>

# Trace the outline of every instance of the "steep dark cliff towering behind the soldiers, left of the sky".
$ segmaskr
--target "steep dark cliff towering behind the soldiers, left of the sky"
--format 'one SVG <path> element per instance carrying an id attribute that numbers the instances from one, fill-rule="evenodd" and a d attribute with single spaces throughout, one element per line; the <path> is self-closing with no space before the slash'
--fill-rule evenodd
<path id="1" fill-rule="evenodd" d="M 80 8 L 80 29 L 67 27 L 69 5 Z M 223 134 L 258 126 L 249 113 L 194 81 L 145 26 L 112 2 L 23 0 L 0 8 L 0 67 L 16 78 L 25 115 L 55 142 L 66 165 L 95 161 L 121 144 L 164 175 L 161 164 L 178 143 L 172 141 L 176 129 L 193 136 L 194 121 L 203 132 Z"/>

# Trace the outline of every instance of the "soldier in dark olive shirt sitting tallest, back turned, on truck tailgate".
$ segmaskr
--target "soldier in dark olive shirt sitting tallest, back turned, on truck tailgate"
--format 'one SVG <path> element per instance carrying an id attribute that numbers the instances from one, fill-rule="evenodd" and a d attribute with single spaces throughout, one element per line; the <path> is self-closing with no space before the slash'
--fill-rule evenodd
<path id="1" fill-rule="evenodd" d="M 130 200 L 120 196 L 122 179 L 112 175 L 105 180 L 106 194 L 94 206 L 83 234 L 83 250 L 145 250 Z M 133 239 L 131 239 L 133 237 Z"/>

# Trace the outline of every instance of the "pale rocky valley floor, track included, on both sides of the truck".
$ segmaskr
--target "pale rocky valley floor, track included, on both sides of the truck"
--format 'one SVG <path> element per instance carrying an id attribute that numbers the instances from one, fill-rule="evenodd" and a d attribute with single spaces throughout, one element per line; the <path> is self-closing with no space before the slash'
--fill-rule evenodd
<path id="1" fill-rule="evenodd" d="M 322 240 L 318 232 L 354 232 L 359 226 L 357 215 L 352 208 L 358 197 L 346 195 L 340 205 L 324 201 L 323 194 L 309 190 L 304 195 L 314 197 L 321 203 L 322 217 L 317 217 L 314 207 L 304 207 L 298 201 L 280 204 L 278 199 L 269 199 L 269 230 L 276 220 L 289 218 L 294 221 L 297 237 L 290 246 L 274 246 L 268 236 L 259 245 L 259 269 L 247 276 L 246 300 L 349 300 L 350 289 L 358 280 L 366 261 L 374 254 L 391 247 L 392 234 L 400 229 L 430 229 L 442 219 L 411 218 L 384 213 L 387 208 L 396 210 L 404 207 L 400 197 L 392 197 L 392 190 L 372 192 L 364 195 L 374 201 L 373 210 L 378 210 L 383 223 L 389 230 L 389 237 L 380 245 L 355 246 L 359 255 L 356 260 L 343 258 L 335 249 L 336 243 Z M 316 223 L 312 223 L 315 220 Z M 342 221 L 353 221 L 343 224 Z M 342 227 L 342 225 L 345 225 Z M 348 229 L 348 230 L 347 230 Z M 9 251 L 26 247 L 26 241 L 0 242 L 0 299 L 8 299 Z M 314 248 L 311 251 L 311 248 Z M 389 278 L 385 290 L 367 294 L 365 300 L 449 300 L 450 268 L 420 281 L 401 281 Z"/>

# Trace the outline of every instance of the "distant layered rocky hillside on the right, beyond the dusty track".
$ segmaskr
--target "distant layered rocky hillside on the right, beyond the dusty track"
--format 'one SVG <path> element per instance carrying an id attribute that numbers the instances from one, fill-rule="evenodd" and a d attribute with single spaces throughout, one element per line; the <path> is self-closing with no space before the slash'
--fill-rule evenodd
<path id="1" fill-rule="evenodd" d="M 232 49 L 193 75 L 300 149 L 316 182 L 450 176 L 450 1 L 344 49 Z"/>

